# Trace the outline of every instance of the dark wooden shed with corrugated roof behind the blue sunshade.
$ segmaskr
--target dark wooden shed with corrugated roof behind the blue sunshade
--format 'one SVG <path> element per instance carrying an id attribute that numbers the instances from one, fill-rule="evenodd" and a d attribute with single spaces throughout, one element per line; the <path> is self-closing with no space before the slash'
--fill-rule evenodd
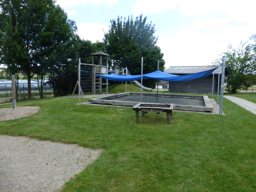
<path id="1" fill-rule="evenodd" d="M 167 69 L 167 73 L 173 75 L 187 75 L 192 73 L 198 73 L 206 70 L 216 68 L 218 66 L 181 66 L 181 67 L 170 67 Z M 166 72 L 166 71 L 164 71 Z M 213 74 L 202 79 L 183 81 L 183 82 L 173 82 L 169 81 L 169 92 L 172 93 L 206 93 L 212 94 L 212 82 L 213 82 L 213 94 L 218 93 L 218 79 L 219 79 L 219 69 L 216 69 Z M 220 84 L 221 86 L 221 66 L 220 66 Z M 219 91 L 220 93 L 220 91 Z"/>

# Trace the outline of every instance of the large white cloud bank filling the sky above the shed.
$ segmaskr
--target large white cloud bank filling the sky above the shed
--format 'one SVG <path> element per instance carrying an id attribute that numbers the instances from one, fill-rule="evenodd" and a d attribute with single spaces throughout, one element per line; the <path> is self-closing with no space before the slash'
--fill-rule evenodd
<path id="1" fill-rule="evenodd" d="M 249 40 L 256 33 L 256 1 L 249 0 L 138 0 L 133 4 L 136 15 L 163 12 L 179 6 L 180 12 L 188 17 L 222 14 L 221 18 L 197 20 L 180 29 L 176 34 L 165 34 L 158 39 L 164 53 L 166 66 L 209 65 L 213 57 Z M 209 59 L 206 59 L 209 58 Z M 181 62 L 175 62 L 181 61 Z"/>

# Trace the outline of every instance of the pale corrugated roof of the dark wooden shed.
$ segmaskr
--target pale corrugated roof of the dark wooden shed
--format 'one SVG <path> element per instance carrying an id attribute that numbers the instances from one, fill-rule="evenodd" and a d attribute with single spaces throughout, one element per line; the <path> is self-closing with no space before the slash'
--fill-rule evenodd
<path id="1" fill-rule="evenodd" d="M 169 74 L 193 74 L 193 73 L 199 73 L 202 71 L 207 71 L 213 68 L 216 68 L 218 66 L 177 66 L 177 67 L 169 67 L 167 69 L 167 73 Z M 220 74 L 221 74 L 221 68 L 222 66 L 220 66 Z M 166 70 L 164 71 L 164 73 L 166 72 Z M 215 74 L 219 74 L 219 68 L 217 68 L 214 71 Z"/>

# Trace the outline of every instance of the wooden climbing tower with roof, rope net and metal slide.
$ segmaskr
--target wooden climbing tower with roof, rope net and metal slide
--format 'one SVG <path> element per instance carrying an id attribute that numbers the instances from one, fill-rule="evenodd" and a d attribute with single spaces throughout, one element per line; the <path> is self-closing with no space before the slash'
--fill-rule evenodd
<path id="1" fill-rule="evenodd" d="M 108 54 L 101 51 L 90 54 L 92 56 L 92 64 L 78 63 L 78 82 L 76 83 L 75 90 L 80 84 L 80 92 L 84 93 L 92 92 L 92 94 L 103 93 L 102 85 L 107 86 L 108 92 L 108 80 L 97 75 L 108 75 L 108 72 L 114 73 L 116 75 L 131 75 L 127 68 L 114 68 L 114 70 L 108 70 Z M 94 64 L 94 57 L 98 57 L 98 64 Z M 102 65 L 102 57 L 106 57 L 106 66 Z M 96 74 L 96 75 L 94 75 Z M 132 83 L 132 81 L 130 81 Z M 133 81 L 135 84 L 141 87 L 138 81 Z M 142 85 L 142 89 L 152 91 L 151 88 Z"/>

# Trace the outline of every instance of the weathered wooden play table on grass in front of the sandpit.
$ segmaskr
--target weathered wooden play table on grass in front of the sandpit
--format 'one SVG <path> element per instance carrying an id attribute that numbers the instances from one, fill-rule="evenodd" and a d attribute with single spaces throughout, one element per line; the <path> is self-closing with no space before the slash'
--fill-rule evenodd
<path id="1" fill-rule="evenodd" d="M 167 123 L 171 123 L 171 119 L 173 119 L 172 110 L 174 104 L 158 104 L 158 103 L 139 103 L 132 107 L 132 110 L 135 111 L 136 121 L 140 122 L 139 111 L 141 111 L 142 116 L 145 116 L 145 113 L 149 111 L 155 111 L 156 114 L 160 114 L 160 112 L 166 112 Z"/>

